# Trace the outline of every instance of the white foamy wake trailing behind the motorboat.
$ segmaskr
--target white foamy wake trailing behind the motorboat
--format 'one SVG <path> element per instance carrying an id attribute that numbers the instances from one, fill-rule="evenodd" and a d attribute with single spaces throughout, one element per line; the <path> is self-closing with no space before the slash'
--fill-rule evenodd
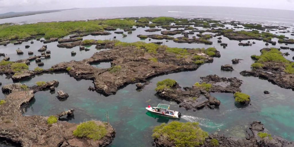
<path id="1" fill-rule="evenodd" d="M 203 126 L 206 128 L 219 128 L 220 126 L 223 126 L 223 124 L 213 123 L 211 120 L 207 118 L 201 118 L 201 117 L 189 116 L 189 115 L 183 115 L 181 116 L 181 118 L 190 122 L 198 122 L 200 126 Z"/>

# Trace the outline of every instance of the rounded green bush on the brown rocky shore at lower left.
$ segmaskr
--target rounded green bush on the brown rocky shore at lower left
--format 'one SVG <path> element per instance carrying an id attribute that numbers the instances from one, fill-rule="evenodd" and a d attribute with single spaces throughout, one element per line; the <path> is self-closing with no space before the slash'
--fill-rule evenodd
<path id="1" fill-rule="evenodd" d="M 78 137 L 88 137 L 94 141 L 101 139 L 107 133 L 105 126 L 98 125 L 95 121 L 86 121 L 79 124 L 73 131 L 73 135 Z"/>

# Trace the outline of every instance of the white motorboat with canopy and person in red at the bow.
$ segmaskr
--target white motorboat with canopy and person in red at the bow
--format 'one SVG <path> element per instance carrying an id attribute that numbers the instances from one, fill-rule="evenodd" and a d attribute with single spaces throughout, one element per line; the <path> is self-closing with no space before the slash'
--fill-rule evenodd
<path id="1" fill-rule="evenodd" d="M 180 118 L 181 112 L 169 110 L 170 105 L 159 103 L 157 107 L 146 107 L 149 112 L 171 118 Z"/>

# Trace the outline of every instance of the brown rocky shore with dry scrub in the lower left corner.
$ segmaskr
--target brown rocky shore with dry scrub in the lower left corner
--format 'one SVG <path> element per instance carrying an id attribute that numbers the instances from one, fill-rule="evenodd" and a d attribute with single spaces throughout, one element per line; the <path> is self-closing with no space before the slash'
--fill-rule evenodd
<path id="1" fill-rule="evenodd" d="M 23 116 L 21 109 L 34 98 L 34 93 L 50 86 L 58 86 L 58 81 L 49 81 L 42 86 L 27 87 L 21 83 L 4 85 L 2 91 L 10 91 L 4 99 L 6 102 L 0 105 L 1 129 L 0 138 L 16 143 L 23 147 L 30 146 L 106 146 L 114 138 L 115 131 L 109 124 L 104 124 L 106 135 L 100 140 L 93 141 L 85 137 L 76 137 L 73 130 L 78 124 L 66 121 L 47 123 L 46 116 Z M 73 115 L 74 110 L 55 114 L 57 118 L 64 115 Z"/>

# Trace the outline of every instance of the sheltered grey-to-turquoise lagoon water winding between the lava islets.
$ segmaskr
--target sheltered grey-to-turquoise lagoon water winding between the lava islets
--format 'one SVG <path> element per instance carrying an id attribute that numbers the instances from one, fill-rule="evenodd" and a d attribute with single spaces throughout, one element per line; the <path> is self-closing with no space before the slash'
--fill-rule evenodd
<path id="1" fill-rule="evenodd" d="M 228 27 L 232 26 L 228 25 Z M 198 28 L 202 29 L 201 27 Z M 83 39 L 111 39 L 113 36 L 116 36 L 118 40 L 125 42 L 158 41 L 154 39 L 151 39 L 151 41 L 148 39 L 141 40 L 136 37 L 138 34 L 160 34 L 160 31 L 148 33 L 144 31 L 145 29 L 149 28 L 137 28 L 136 31 L 133 31 L 133 34 L 127 34 L 128 36 L 125 38 L 123 38 L 121 34 L 114 34 L 113 31 L 110 31 L 112 34 L 108 36 L 85 36 Z M 291 29 L 292 28 L 289 30 Z M 293 38 L 290 34 L 285 35 Z M 190 38 L 192 38 L 192 36 L 196 36 L 196 34 L 189 35 Z M 65 36 L 64 38 L 68 37 L 69 36 Z M 213 41 L 213 45 L 179 44 L 173 41 L 166 42 L 166 40 L 162 40 L 165 45 L 170 47 L 208 48 L 215 46 L 218 51 L 220 51 L 221 57 L 214 58 L 213 63 L 204 64 L 196 71 L 185 71 L 148 78 L 151 83 L 146 85 L 142 91 L 136 91 L 135 84 L 129 84 L 121 87 L 115 95 L 106 97 L 95 91 L 88 91 L 89 86 L 94 86 L 92 81 L 76 80 L 73 77 L 70 77 L 67 73 L 43 74 L 26 81 L 21 81 L 21 83 L 26 83 L 27 85 L 32 86 L 35 85 L 36 81 L 51 81 L 56 79 L 59 81 L 59 86 L 56 88 L 56 91 L 63 90 L 64 92 L 69 93 L 69 98 L 67 98 L 66 101 L 59 101 L 56 98 L 56 93 L 39 91 L 35 93 L 35 98 L 30 101 L 30 105 L 23 110 L 23 115 L 49 116 L 74 108 L 74 116 L 70 118 L 64 117 L 62 120 L 79 123 L 91 119 L 107 121 L 104 114 L 108 111 L 110 123 L 117 132 L 114 141 L 109 147 L 152 146 L 153 140 L 151 134 L 153 127 L 160 123 L 168 123 L 173 120 L 181 122 L 197 121 L 201 128 L 209 133 L 220 133 L 228 136 L 238 136 L 240 138 L 245 137 L 245 128 L 248 128 L 252 121 L 260 120 L 272 135 L 279 135 L 285 139 L 293 141 L 294 126 L 292 125 L 292 122 L 294 121 L 294 113 L 291 111 L 294 108 L 294 100 L 292 98 L 293 91 L 280 88 L 266 80 L 256 77 L 244 77 L 239 74 L 240 71 L 250 69 L 250 64 L 254 62 L 250 56 L 253 54 L 259 55 L 259 50 L 265 47 L 265 42 L 250 40 L 250 42 L 255 41 L 256 44 L 243 47 L 238 46 L 239 41 L 233 41 L 223 37 L 223 43 L 228 43 L 228 47 L 223 49 L 222 46 L 216 43 L 216 38 L 218 37 L 210 39 Z M 277 39 L 273 40 L 277 41 Z M 24 46 L 27 44 L 31 47 L 29 49 L 24 49 Z M 29 42 L 24 42 L 21 45 L 8 44 L 7 46 L 0 46 L 0 52 L 8 54 L 11 61 L 13 61 L 29 57 L 27 51 L 34 51 L 34 55 L 41 54 L 40 52 L 37 52 L 37 50 L 42 45 L 44 44 L 36 40 L 34 40 L 34 44 L 30 44 Z M 93 53 L 103 50 L 97 50 L 95 49 L 95 46 L 87 46 L 87 48 L 90 49 L 90 51 L 87 52 L 79 51 L 78 47 L 73 49 L 58 48 L 56 46 L 57 42 L 46 45 L 51 51 L 51 58 L 42 59 L 42 62 L 45 64 L 42 67 L 44 69 L 48 69 L 52 65 L 62 61 L 78 61 L 88 58 L 92 56 Z M 269 47 L 280 46 L 285 45 L 277 44 L 276 46 L 270 45 Z M 294 45 L 288 46 L 294 47 Z M 24 51 L 24 55 L 16 54 L 15 50 L 18 47 Z M 71 56 L 71 51 L 76 51 L 76 56 Z M 293 51 L 281 51 L 288 51 L 291 55 L 286 58 L 293 61 Z M 0 59 L 2 58 L 3 57 Z M 234 58 L 243 59 L 239 64 L 233 64 L 234 71 L 220 71 L 221 65 L 231 64 L 231 60 Z M 34 69 L 36 66 L 35 61 L 31 61 L 29 68 Z M 110 67 L 110 63 L 101 62 L 92 64 L 92 66 L 97 68 L 108 68 Z M 201 76 L 207 76 L 209 74 L 217 74 L 220 77 L 237 77 L 243 80 L 241 90 L 250 95 L 251 105 L 247 107 L 240 106 L 238 103 L 235 103 L 233 94 L 231 93 L 212 93 L 212 95 L 218 98 L 221 102 L 219 108 L 213 110 L 205 108 L 195 112 L 191 110 L 186 111 L 184 108 L 179 108 L 177 103 L 166 101 L 158 97 L 154 91 L 156 82 L 165 78 L 175 79 L 181 87 L 191 87 L 195 82 L 201 80 Z M 2 82 L 2 84 L 13 83 L 11 79 L 6 79 L 5 76 L 0 76 L 0 82 Z M 263 94 L 264 90 L 268 90 L 270 94 Z M 4 97 L 3 93 L 0 93 L 0 95 L 0 97 Z M 183 117 L 181 119 L 172 119 L 147 113 L 145 107 L 148 104 L 154 106 L 158 103 L 171 105 L 171 109 L 181 111 Z"/>

